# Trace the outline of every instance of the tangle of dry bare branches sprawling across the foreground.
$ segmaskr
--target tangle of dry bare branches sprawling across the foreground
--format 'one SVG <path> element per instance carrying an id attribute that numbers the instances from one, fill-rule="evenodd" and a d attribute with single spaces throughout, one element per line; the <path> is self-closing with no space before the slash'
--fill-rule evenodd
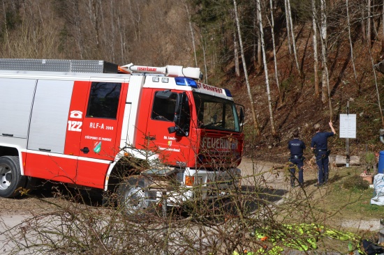
<path id="1" fill-rule="evenodd" d="M 316 201 L 304 190 L 295 189 L 289 194 L 263 186 L 259 179 L 266 174 L 271 173 L 269 170 L 255 173 L 257 187 L 233 186 L 227 190 L 228 196 L 216 201 L 196 196 L 193 202 L 168 208 L 167 215 L 162 215 L 161 206 L 156 212 L 126 215 L 121 213 L 124 208 L 118 206 L 89 203 L 94 199 L 91 194 L 66 190 L 57 194 L 52 210 L 36 213 L 2 233 L 8 240 L 3 251 L 7 254 L 214 255 L 234 251 L 241 254 L 243 249 L 257 252 L 267 244 L 283 247 L 281 254 L 289 254 L 293 248 L 283 246 L 285 242 L 300 244 L 307 238 L 287 233 L 287 224 L 297 223 L 291 215 L 307 215 L 305 222 L 316 223 L 320 212 L 311 211 L 311 203 Z M 52 204 L 52 200 L 42 201 Z M 279 236 L 283 233 L 283 239 L 265 242 L 254 235 L 257 229 L 274 229 Z M 319 239 L 319 247 L 321 243 Z"/>

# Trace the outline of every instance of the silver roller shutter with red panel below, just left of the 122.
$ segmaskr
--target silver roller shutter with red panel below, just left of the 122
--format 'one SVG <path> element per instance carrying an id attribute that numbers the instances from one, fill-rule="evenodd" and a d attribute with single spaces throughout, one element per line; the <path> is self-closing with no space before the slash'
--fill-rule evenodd
<path id="1" fill-rule="evenodd" d="M 38 79 L 31 110 L 25 174 L 72 183 L 77 157 L 64 154 L 73 81 Z"/>

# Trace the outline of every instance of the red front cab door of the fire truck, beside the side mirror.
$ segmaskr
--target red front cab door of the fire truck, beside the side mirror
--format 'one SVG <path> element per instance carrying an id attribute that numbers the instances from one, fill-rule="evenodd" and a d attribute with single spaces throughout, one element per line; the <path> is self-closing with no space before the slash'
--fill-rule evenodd
<path id="1" fill-rule="evenodd" d="M 156 152 L 163 162 L 183 167 L 189 160 L 191 136 L 189 131 L 183 136 L 176 132 L 168 132 L 169 127 L 175 127 L 173 121 L 177 92 L 172 92 L 169 98 L 162 97 L 163 93 L 167 93 L 167 91 L 158 89 L 145 89 L 143 91 L 137 141 L 140 143 L 139 147 L 149 148 L 149 150 Z M 146 114 L 143 114 L 144 111 L 142 110 Z M 184 111 L 188 113 L 184 112 L 186 118 L 183 125 L 185 125 L 184 127 L 187 126 L 186 130 L 189 130 L 190 110 L 184 109 Z M 145 123 L 147 124 L 146 127 L 144 127 Z"/>

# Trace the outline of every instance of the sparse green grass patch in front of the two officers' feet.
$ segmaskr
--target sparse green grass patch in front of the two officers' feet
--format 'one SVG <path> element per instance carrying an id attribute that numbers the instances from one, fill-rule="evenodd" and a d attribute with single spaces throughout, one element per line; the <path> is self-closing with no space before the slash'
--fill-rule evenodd
<path id="1" fill-rule="evenodd" d="M 360 176 L 361 167 L 332 168 L 328 185 L 304 190 L 291 190 L 279 205 L 279 219 L 290 222 L 317 222 L 341 229 L 362 228 L 354 222 L 379 221 L 384 215 L 384 206 L 371 205 L 374 189 Z M 316 181 L 316 176 L 307 172 L 307 182 Z M 369 229 L 369 226 L 364 226 Z"/>

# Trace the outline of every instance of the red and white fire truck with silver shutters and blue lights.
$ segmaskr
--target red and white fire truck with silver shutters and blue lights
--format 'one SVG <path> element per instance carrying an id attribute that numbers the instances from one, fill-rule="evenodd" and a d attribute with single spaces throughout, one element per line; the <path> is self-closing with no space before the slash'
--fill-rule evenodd
<path id="1" fill-rule="evenodd" d="M 117 192 L 128 212 L 164 194 L 168 206 L 194 199 L 196 186 L 203 199 L 223 194 L 239 181 L 244 107 L 201 77 L 176 65 L 0 59 L 0 196 L 36 178 Z"/>

